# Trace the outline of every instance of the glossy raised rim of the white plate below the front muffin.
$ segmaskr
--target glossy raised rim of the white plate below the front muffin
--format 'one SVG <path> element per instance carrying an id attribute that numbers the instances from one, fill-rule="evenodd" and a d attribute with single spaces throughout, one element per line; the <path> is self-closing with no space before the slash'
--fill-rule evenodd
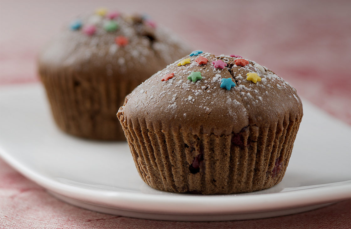
<path id="1" fill-rule="evenodd" d="M 33 90 L 39 87 L 42 88 L 39 83 L 1 86 L 3 89 L 1 94 L 11 92 L 9 89 L 13 88 L 21 88 L 23 93 L 23 89 Z M 170 195 L 157 195 L 128 191 L 92 190 L 72 186 L 42 175 L 16 160 L 16 157 L 3 149 L 1 145 L 0 157 L 29 180 L 47 190 L 75 200 L 122 210 L 146 211 L 149 213 L 166 212 L 167 214 L 233 214 L 289 209 L 351 198 L 351 180 L 343 181 L 341 184 L 340 182 L 336 182 L 339 184 L 331 183 L 330 186 L 324 187 L 257 195 L 195 196 L 189 194 L 172 195 L 172 193 Z M 265 198 L 262 198 L 262 195 Z M 267 204 L 269 201 L 270 204 Z M 168 203 L 167 206 L 165 206 L 165 202 Z M 184 208 L 184 204 L 186 208 Z"/>

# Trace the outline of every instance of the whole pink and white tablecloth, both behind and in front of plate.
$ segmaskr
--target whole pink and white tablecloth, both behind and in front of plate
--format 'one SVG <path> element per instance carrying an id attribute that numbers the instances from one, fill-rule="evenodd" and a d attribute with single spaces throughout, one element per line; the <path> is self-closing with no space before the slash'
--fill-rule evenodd
<path id="1" fill-rule="evenodd" d="M 35 56 L 59 27 L 98 6 L 145 12 L 194 49 L 238 54 L 273 69 L 326 112 L 351 124 L 350 1 L 2 1 L 0 84 L 37 81 Z M 1 87 L 0 87 L 1 89 Z M 24 152 L 25 153 L 25 152 Z M 63 203 L 0 162 L 0 228 L 351 228 L 350 200 L 275 218 L 152 221 Z"/>

